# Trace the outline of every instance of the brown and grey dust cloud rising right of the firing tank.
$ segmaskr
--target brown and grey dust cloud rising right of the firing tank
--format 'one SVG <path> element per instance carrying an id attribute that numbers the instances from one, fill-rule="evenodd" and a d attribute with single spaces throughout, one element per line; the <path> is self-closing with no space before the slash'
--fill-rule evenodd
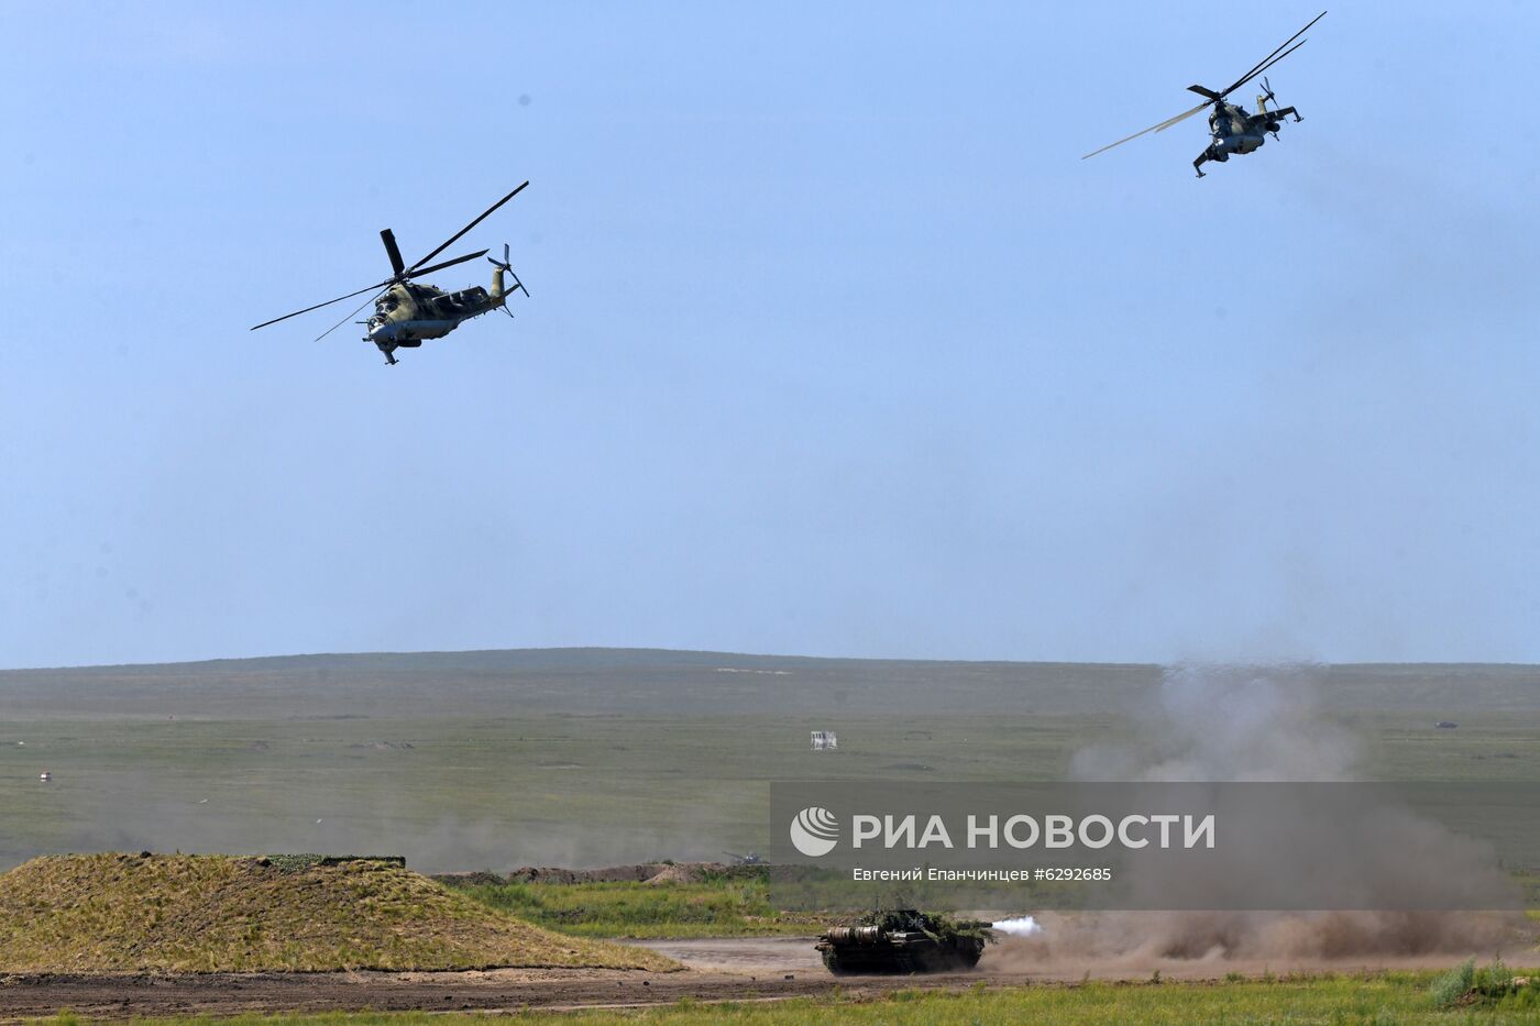
<path id="1" fill-rule="evenodd" d="M 1070 773 L 1087 781 L 1352 781 L 1357 738 L 1321 712 L 1321 673 L 1312 666 L 1177 666 L 1137 712 L 1127 739 L 1076 752 Z M 1297 810 L 1306 823 L 1311 810 Z M 1391 904 L 1417 887 L 1449 880 L 1491 886 L 1500 873 L 1481 846 L 1406 809 L 1375 810 L 1384 824 L 1364 830 L 1329 867 L 1366 895 Z M 1415 855 L 1412 855 L 1415 852 Z M 1247 872 L 1287 855 L 1260 847 Z M 1244 881 L 1167 880 L 1146 887 L 1234 894 Z M 1508 887 L 1502 880 L 1498 886 Z M 1158 907 L 1158 895 L 1138 895 Z M 1217 901 L 1217 904 L 1221 904 Z M 1522 914 L 1426 910 L 1321 912 L 1080 912 L 1038 914 L 1036 932 L 1009 937 L 990 966 L 1021 972 L 1129 971 L 1207 975 L 1383 964 L 1446 964 L 1451 957 L 1494 957 L 1534 943 Z M 1366 963 L 1368 960 L 1368 963 Z"/>

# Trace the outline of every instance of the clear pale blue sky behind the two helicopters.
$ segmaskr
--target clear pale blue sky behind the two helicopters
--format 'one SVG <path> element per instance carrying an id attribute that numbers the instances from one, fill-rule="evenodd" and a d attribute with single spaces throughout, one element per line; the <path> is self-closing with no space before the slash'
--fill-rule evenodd
<path id="1" fill-rule="evenodd" d="M 1540 661 L 1532 6 L 833 6 L 5 3 L 0 666 Z"/>

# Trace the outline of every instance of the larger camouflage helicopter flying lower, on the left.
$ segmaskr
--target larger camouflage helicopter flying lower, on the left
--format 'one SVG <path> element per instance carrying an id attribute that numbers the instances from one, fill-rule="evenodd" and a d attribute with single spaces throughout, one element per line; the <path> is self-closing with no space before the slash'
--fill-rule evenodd
<path id="1" fill-rule="evenodd" d="M 525 185 L 528 185 L 528 182 L 488 206 L 480 217 L 456 231 L 450 236 L 448 242 L 411 267 L 407 267 L 407 262 L 400 259 L 400 250 L 396 246 L 396 234 L 390 228 L 385 228 L 380 231 L 380 242 L 385 243 L 385 256 L 390 257 L 390 265 L 394 274 L 387 277 L 383 282 L 377 282 L 368 288 L 360 288 L 354 293 L 348 293 L 346 296 L 337 296 L 336 299 L 328 299 L 323 303 L 305 307 L 303 310 L 296 310 L 291 314 L 283 314 L 282 317 L 274 317 L 273 320 L 263 320 L 251 330 L 256 331 L 257 328 L 265 328 L 270 324 L 277 324 L 279 320 L 288 320 L 290 317 L 297 317 L 302 313 L 310 313 L 311 310 L 320 310 L 322 307 L 330 307 L 331 303 L 340 303 L 343 299 L 353 299 L 354 296 L 362 296 L 363 293 L 383 290 L 374 297 L 363 300 L 363 305 L 359 307 L 359 310 L 363 310 L 363 307 L 374 303 L 374 316 L 368 320 L 354 320 L 354 324 L 362 324 L 367 328 L 363 340 L 377 345 L 380 353 L 385 354 L 385 362 L 394 367 L 400 362 L 396 359 L 397 348 L 414 350 L 422 345 L 424 339 L 442 339 L 450 331 L 460 327 L 462 322 L 470 320 L 471 317 L 479 317 L 484 313 L 491 313 L 493 310 L 500 310 L 511 317 L 513 313 L 508 310 L 508 296 L 516 291 L 522 291 L 528 296 L 530 290 L 524 288 L 524 282 L 521 282 L 519 276 L 513 273 L 513 267 L 508 263 L 507 245 L 502 248 L 502 260 L 487 257 L 487 262 L 496 268 L 491 273 L 490 293 L 480 285 L 462 288 L 457 293 L 445 293 L 440 288 L 422 285 L 413 279 L 431 274 L 433 271 L 442 271 L 447 267 L 454 267 L 456 263 L 464 263 L 465 260 L 474 260 L 479 256 L 487 256 L 485 250 L 477 250 L 476 253 L 468 253 L 462 257 L 454 257 L 453 260 L 444 260 L 442 263 L 424 267 L 428 260 L 454 245 L 467 231 L 487 220 L 493 211 L 522 193 Z M 505 288 L 504 274 L 513 277 L 513 288 Z M 354 310 L 351 314 L 322 331 L 316 336 L 316 340 L 319 342 L 340 328 L 351 317 L 354 317 L 359 310 Z"/>

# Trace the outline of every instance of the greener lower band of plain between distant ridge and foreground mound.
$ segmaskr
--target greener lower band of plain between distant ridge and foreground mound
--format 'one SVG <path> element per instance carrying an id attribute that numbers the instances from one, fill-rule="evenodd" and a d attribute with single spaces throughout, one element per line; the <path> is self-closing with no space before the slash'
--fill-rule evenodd
<path id="1" fill-rule="evenodd" d="M 708 861 L 765 844 L 770 780 L 1061 780 L 1078 749 L 1137 727 L 1113 713 L 875 710 L 165 716 L 0 719 L 0 869 L 103 849 L 362 850 L 424 872 Z M 1371 780 L 1540 781 L 1540 707 L 1461 716 L 1458 730 L 1420 712 L 1349 719 Z M 839 730 L 839 752 L 807 750 L 822 727 Z"/>

